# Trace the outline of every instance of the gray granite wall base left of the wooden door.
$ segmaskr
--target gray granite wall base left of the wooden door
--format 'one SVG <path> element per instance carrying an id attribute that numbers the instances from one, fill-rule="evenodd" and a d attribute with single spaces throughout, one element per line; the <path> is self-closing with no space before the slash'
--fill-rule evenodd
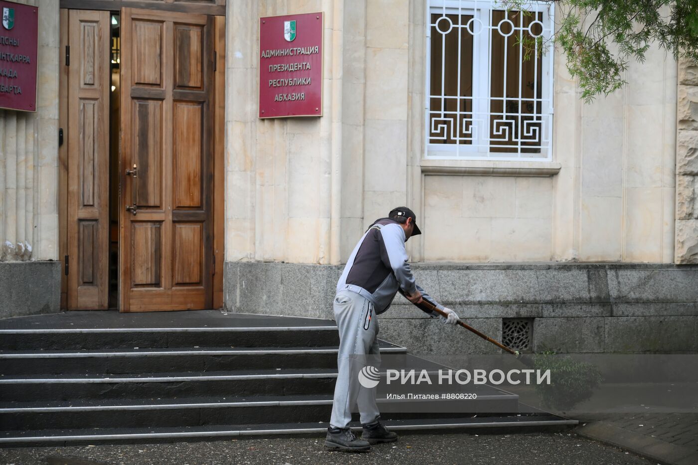
<path id="1" fill-rule="evenodd" d="M 0 262 L 0 318 L 59 311 L 60 262 Z"/>

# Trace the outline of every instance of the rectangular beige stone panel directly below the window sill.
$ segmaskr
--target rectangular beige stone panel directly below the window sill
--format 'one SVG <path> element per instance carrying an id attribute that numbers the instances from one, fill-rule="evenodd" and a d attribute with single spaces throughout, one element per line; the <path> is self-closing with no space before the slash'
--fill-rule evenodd
<path id="1" fill-rule="evenodd" d="M 552 193 L 551 177 L 426 176 L 425 259 L 549 261 Z"/>

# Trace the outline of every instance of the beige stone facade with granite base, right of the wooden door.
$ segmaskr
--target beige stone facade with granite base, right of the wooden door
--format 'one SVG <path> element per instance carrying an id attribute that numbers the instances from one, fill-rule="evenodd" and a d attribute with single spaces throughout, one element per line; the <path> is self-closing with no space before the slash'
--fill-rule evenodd
<path id="1" fill-rule="evenodd" d="M 534 350 L 698 350 L 697 270 L 673 264 L 698 256 L 695 67 L 681 65 L 677 86 L 676 61 L 654 45 L 629 64 L 627 86 L 585 104 L 556 50 L 552 161 L 433 160 L 426 0 L 227 8 L 228 311 L 333 318 L 357 239 L 410 205 L 423 231 L 407 244 L 417 281 L 494 339 L 506 318 L 530 318 Z M 248 18 L 319 10 L 324 116 L 258 119 L 258 27 Z M 401 297 L 380 331 L 414 353 L 497 352 Z"/>

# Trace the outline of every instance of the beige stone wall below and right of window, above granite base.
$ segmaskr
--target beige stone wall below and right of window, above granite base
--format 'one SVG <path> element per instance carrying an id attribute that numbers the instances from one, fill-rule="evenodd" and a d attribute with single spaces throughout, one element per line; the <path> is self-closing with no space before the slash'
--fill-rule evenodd
<path id="1" fill-rule="evenodd" d="M 676 61 L 651 47 L 644 64 L 628 67 L 628 85 L 591 104 L 560 50 L 554 73 L 554 163 L 526 177 L 514 163 L 453 163 L 500 176 L 427 172 L 423 260 L 673 261 Z M 549 168 L 559 172 L 532 176 Z"/>

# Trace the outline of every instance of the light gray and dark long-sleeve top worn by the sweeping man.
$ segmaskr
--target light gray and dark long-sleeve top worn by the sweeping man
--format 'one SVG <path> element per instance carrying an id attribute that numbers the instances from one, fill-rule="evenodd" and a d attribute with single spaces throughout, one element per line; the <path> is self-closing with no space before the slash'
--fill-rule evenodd
<path id="1" fill-rule="evenodd" d="M 376 220 L 352 251 L 337 283 L 337 292 L 348 289 L 359 293 L 373 304 L 376 313 L 383 313 L 399 288 L 409 294 L 419 290 L 422 299 L 443 310 L 443 305 L 415 283 L 405 250 L 406 240 L 405 231 L 397 221 Z"/>

